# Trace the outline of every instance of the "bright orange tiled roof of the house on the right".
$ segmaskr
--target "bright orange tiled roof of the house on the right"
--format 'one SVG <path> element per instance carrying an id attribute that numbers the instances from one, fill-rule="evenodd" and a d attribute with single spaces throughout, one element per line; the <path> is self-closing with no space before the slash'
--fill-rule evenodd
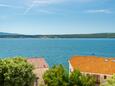
<path id="1" fill-rule="evenodd" d="M 81 72 L 114 74 L 115 58 L 103 58 L 96 56 L 74 56 L 70 59 L 73 69 Z"/>

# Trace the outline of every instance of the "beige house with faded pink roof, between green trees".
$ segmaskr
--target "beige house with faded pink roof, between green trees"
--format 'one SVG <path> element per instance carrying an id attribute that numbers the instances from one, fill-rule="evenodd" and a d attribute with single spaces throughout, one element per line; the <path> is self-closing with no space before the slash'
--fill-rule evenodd
<path id="1" fill-rule="evenodd" d="M 48 64 L 44 58 L 28 58 L 27 62 L 34 66 L 34 74 L 36 75 L 36 81 L 34 86 L 44 85 L 43 75 L 48 70 Z"/>

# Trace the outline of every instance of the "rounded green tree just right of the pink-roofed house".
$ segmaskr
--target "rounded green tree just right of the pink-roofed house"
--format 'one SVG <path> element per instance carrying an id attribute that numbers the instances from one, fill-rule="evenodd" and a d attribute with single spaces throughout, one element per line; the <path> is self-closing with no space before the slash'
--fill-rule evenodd
<path id="1" fill-rule="evenodd" d="M 68 72 L 62 65 L 55 65 L 43 76 L 47 86 L 68 86 Z"/>

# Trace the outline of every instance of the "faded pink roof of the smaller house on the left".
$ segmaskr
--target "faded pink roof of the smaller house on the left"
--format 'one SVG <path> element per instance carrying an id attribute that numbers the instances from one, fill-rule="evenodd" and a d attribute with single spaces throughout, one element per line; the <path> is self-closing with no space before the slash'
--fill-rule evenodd
<path id="1" fill-rule="evenodd" d="M 28 58 L 27 61 L 34 65 L 35 68 L 48 68 L 44 58 Z"/>

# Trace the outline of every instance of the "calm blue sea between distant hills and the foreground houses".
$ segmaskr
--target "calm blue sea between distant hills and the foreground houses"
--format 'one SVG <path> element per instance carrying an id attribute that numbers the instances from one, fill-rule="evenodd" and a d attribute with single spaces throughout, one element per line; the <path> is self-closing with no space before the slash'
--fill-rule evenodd
<path id="1" fill-rule="evenodd" d="M 75 55 L 115 57 L 115 39 L 0 39 L 0 58 L 43 57 L 50 66 L 67 66 Z"/>

